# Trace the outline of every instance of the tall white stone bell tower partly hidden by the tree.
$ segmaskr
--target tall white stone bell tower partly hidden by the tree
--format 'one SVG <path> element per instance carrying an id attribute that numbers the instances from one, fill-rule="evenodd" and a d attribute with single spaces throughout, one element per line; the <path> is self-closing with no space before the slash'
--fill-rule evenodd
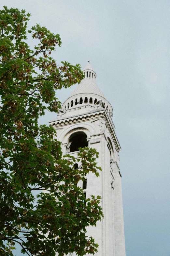
<path id="1" fill-rule="evenodd" d="M 120 144 L 112 121 L 112 106 L 96 84 L 96 73 L 88 61 L 83 69 L 85 78 L 64 102 L 57 119 L 50 121 L 62 142 L 63 153 L 76 157 L 78 147 L 94 147 L 99 152 L 100 177 L 89 173 L 79 181 L 87 198 L 102 196 L 104 219 L 96 227 L 87 228 L 99 244 L 96 256 L 125 256 Z M 106 88 L 107 90 L 107 88 Z M 73 254 L 74 255 L 74 254 Z"/>

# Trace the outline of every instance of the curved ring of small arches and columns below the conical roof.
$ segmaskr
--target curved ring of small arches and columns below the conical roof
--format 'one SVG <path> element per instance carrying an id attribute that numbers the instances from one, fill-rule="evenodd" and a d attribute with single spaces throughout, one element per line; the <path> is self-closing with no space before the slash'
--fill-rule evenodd
<path id="1" fill-rule="evenodd" d="M 102 102 L 101 99 L 87 97 L 87 96 L 71 100 L 70 102 L 67 103 L 67 105 L 64 106 L 63 111 L 65 112 L 67 109 L 75 108 L 75 106 L 77 106 L 79 104 L 83 104 L 83 105 L 84 104 L 92 104 L 93 106 L 99 105 L 99 106 L 102 106 L 104 109 L 106 109 L 106 111 L 109 112 L 110 115 L 112 115 L 111 109 L 109 108 L 108 105 L 106 105 L 105 102 Z"/>

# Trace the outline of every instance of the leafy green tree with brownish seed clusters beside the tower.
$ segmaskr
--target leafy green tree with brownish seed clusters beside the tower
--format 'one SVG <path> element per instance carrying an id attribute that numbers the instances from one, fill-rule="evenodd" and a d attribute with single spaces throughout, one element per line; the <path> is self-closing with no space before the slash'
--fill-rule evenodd
<path id="1" fill-rule="evenodd" d="M 15 244 L 30 256 L 94 254 L 98 245 L 84 232 L 103 217 L 101 198 L 85 199 L 75 183 L 89 171 L 99 175 L 98 153 L 79 148 L 75 169 L 55 130 L 37 123 L 46 109 L 60 109 L 55 90 L 80 83 L 83 73 L 79 65 L 56 64 L 50 55 L 61 46 L 60 35 L 38 24 L 27 31 L 29 17 L 24 10 L 0 11 L 0 254 L 13 255 Z M 28 33 L 38 41 L 34 50 Z"/>

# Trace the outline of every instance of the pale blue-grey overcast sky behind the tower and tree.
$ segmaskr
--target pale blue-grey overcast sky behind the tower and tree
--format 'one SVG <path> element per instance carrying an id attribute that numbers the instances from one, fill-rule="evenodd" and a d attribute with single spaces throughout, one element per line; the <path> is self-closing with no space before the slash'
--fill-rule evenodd
<path id="1" fill-rule="evenodd" d="M 39 23 L 61 35 L 62 47 L 53 54 L 58 64 L 83 68 L 90 60 L 122 147 L 126 256 L 169 256 L 170 1 L 1 0 L 3 5 L 31 13 L 29 27 Z M 57 92 L 60 101 L 74 88 Z M 40 123 L 55 117 L 47 113 Z"/>

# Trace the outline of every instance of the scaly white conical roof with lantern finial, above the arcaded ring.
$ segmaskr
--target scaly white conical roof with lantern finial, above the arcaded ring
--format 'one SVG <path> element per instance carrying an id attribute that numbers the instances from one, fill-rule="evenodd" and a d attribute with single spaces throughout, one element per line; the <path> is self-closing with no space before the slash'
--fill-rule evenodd
<path id="1" fill-rule="evenodd" d="M 70 94 L 68 98 L 76 94 L 90 93 L 97 94 L 106 99 L 105 95 L 96 84 L 96 73 L 90 64 L 90 61 L 88 61 L 86 67 L 82 71 L 84 72 L 84 79 L 81 81 L 80 84 L 78 84 L 76 89 Z"/>

